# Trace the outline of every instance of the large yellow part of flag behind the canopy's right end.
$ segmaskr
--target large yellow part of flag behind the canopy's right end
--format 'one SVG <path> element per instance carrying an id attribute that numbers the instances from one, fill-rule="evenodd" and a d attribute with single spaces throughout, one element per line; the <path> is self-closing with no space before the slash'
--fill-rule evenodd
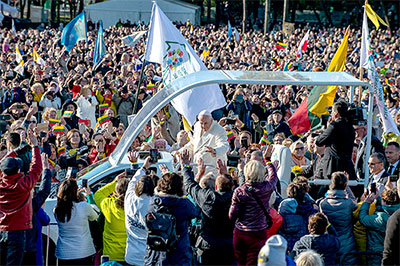
<path id="1" fill-rule="evenodd" d="M 328 67 L 328 72 L 341 72 L 346 62 L 347 49 L 349 47 L 349 30 L 346 30 L 342 43 L 336 51 Z M 309 109 L 309 111 L 317 116 L 329 114 L 326 107 L 332 106 L 335 100 L 337 86 L 328 86 L 324 93 L 321 93 L 318 101 Z"/>

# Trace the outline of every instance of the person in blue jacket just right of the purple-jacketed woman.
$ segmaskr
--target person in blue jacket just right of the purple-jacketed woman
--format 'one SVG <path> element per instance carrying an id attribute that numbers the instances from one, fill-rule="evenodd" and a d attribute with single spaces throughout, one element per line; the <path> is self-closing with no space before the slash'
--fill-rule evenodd
<path id="1" fill-rule="evenodd" d="M 278 233 L 288 241 L 287 248 L 290 251 L 296 241 L 307 234 L 308 217 L 316 210 L 310 204 L 307 212 L 300 212 L 301 209 L 298 206 L 300 204 L 305 205 L 303 202 L 306 192 L 303 187 L 290 184 L 287 193 L 289 198 L 283 200 L 279 205 L 279 213 L 282 215 L 283 223 Z"/>

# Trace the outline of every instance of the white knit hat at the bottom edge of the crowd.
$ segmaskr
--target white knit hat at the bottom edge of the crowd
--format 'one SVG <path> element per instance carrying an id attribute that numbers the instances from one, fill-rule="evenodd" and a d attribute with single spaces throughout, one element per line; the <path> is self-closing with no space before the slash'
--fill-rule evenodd
<path id="1" fill-rule="evenodd" d="M 258 266 L 285 266 L 287 241 L 280 235 L 273 235 L 258 253 Z"/>

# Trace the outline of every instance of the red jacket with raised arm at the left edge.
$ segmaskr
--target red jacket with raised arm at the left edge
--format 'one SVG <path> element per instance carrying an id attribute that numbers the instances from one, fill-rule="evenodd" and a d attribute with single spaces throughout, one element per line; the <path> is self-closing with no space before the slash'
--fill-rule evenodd
<path id="1" fill-rule="evenodd" d="M 32 153 L 29 173 L 7 176 L 0 174 L 0 231 L 32 228 L 31 190 L 40 179 L 42 159 L 36 146 Z"/>

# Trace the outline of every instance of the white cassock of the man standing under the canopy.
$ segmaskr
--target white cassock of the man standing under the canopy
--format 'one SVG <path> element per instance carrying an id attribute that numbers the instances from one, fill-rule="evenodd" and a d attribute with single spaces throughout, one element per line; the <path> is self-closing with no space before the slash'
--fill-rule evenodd
<path id="1" fill-rule="evenodd" d="M 210 152 L 206 152 L 205 146 L 215 149 L 216 156 L 214 157 Z M 221 159 L 225 163 L 227 161 L 226 153 L 229 151 L 228 136 L 225 129 L 215 120 L 213 120 L 210 129 L 203 134 L 200 123 L 197 122 L 194 124 L 192 139 L 179 151 L 182 152 L 183 150 L 189 152 L 194 163 L 197 163 L 202 158 L 207 166 L 206 172 L 212 171 L 216 173 L 217 160 Z"/>

